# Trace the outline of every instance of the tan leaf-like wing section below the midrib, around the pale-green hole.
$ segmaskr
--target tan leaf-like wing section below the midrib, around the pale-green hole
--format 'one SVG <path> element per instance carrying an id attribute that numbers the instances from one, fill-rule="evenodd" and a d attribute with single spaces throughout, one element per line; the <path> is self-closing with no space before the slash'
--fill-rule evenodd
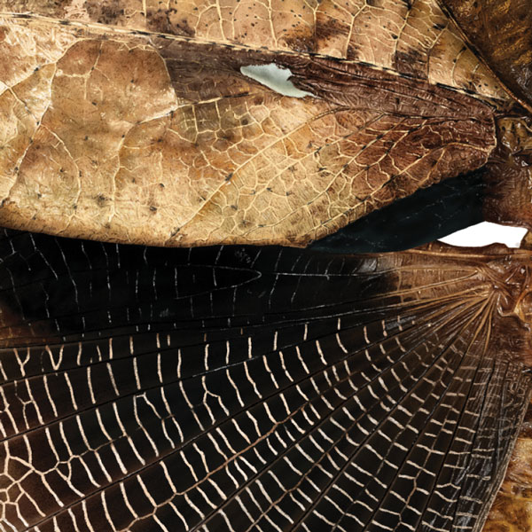
<path id="1" fill-rule="evenodd" d="M 51 29 L 5 27 L 25 26 Z M 302 246 L 481 166 L 495 144 L 478 100 L 369 66 L 153 35 L 102 40 L 89 28 L 72 44 L 61 31 L 59 60 L 41 59 L 26 85 L 6 76 L 4 113 L 16 90 L 22 106 L 16 134 L 11 115 L 4 122 L 7 226 L 154 245 Z M 70 31 L 74 40 L 80 30 Z M 42 35 L 33 43 L 46 49 Z M 240 74 L 270 62 L 316 98 L 282 97 Z"/>

